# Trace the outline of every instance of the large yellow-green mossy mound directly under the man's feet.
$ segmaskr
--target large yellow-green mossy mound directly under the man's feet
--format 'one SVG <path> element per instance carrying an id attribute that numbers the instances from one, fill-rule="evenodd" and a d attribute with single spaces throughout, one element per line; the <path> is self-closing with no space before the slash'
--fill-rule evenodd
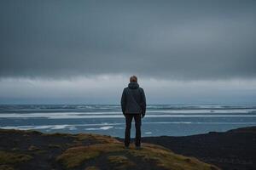
<path id="1" fill-rule="evenodd" d="M 57 161 L 61 162 L 65 169 L 86 168 L 92 165 L 102 167 L 99 163 L 109 169 L 143 169 L 148 163 L 154 165 L 152 169 L 218 169 L 195 158 L 176 155 L 171 150 L 155 144 L 143 144 L 142 150 L 136 150 L 134 147 L 125 149 L 119 142 L 73 147 L 58 156 Z"/>

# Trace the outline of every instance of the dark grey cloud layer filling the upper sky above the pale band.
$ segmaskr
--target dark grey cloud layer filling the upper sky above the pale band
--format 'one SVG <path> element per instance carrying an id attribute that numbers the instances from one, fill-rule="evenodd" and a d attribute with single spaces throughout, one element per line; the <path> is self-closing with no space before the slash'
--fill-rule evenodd
<path id="1" fill-rule="evenodd" d="M 0 77 L 256 77 L 255 1 L 1 1 Z"/>

